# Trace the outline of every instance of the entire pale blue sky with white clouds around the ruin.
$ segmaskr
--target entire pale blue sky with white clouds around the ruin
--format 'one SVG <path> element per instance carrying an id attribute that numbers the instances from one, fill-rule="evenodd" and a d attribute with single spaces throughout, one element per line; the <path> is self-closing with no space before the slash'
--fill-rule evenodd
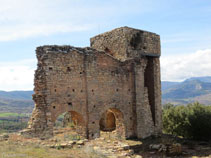
<path id="1" fill-rule="evenodd" d="M 0 0 L 0 90 L 33 89 L 35 49 L 129 26 L 161 36 L 162 80 L 211 75 L 209 0 Z"/>

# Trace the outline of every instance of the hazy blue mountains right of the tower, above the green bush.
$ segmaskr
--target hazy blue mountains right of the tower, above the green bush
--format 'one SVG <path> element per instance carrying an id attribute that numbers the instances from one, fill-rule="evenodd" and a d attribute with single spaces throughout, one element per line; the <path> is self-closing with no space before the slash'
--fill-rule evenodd
<path id="1" fill-rule="evenodd" d="M 162 82 L 162 103 L 211 105 L 211 77 L 193 77 L 184 82 Z"/>

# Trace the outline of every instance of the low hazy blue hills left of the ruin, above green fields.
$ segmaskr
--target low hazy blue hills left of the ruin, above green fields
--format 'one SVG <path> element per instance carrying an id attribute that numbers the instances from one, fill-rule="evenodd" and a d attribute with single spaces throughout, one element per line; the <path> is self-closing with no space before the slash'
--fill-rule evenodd
<path id="1" fill-rule="evenodd" d="M 0 112 L 31 113 L 33 91 L 0 91 Z"/>

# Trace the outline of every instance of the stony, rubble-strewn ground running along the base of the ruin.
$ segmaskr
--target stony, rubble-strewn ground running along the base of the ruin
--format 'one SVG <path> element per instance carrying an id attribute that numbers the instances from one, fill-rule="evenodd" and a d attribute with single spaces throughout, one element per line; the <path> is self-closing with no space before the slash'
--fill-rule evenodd
<path id="1" fill-rule="evenodd" d="M 102 133 L 101 138 L 87 140 L 67 129 L 58 130 L 55 133 L 53 138 L 47 140 L 25 138 L 18 133 L 3 134 L 0 136 L 0 145 L 13 144 L 19 148 L 33 146 L 45 149 L 46 152 L 50 151 L 51 154 L 58 153 L 58 158 L 60 158 L 60 153 L 66 158 L 211 157 L 211 143 L 190 141 L 168 135 L 144 140 L 124 140 L 110 133 Z M 1 148 L 0 152 L 7 153 L 6 148 L 5 151 Z M 17 151 L 13 154 L 15 152 Z M 12 151 L 9 153 L 11 154 Z M 51 157 L 48 154 L 47 156 Z"/>

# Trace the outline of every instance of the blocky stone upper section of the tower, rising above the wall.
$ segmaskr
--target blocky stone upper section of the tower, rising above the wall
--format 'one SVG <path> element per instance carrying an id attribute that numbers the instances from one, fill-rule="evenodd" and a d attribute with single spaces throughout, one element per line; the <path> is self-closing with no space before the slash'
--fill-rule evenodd
<path id="1" fill-rule="evenodd" d="M 138 29 L 120 27 L 90 39 L 91 47 L 125 61 L 141 56 L 160 56 L 160 36 Z"/>

